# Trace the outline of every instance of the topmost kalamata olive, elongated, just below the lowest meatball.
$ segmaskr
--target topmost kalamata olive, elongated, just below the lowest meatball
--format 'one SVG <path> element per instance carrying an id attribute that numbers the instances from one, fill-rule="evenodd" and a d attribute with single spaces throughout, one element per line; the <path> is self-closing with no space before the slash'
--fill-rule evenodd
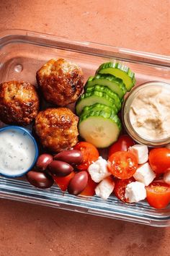
<path id="1" fill-rule="evenodd" d="M 83 161 L 83 154 L 80 150 L 65 150 L 55 155 L 54 159 L 76 165 Z"/>

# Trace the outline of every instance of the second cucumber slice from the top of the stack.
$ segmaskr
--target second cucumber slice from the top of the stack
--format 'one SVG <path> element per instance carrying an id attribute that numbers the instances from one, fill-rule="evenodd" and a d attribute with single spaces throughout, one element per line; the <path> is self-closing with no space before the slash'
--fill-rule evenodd
<path id="1" fill-rule="evenodd" d="M 94 77 L 89 77 L 85 85 L 85 90 L 88 87 L 94 85 L 103 85 L 112 90 L 112 92 L 117 93 L 120 99 L 123 98 L 127 89 L 125 84 L 120 78 L 114 77 L 112 74 L 97 74 Z"/>

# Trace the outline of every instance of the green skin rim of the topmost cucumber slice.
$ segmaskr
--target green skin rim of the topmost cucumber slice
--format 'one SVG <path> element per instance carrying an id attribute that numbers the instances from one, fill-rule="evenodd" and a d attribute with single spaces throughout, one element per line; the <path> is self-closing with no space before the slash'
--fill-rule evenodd
<path id="1" fill-rule="evenodd" d="M 128 74 L 128 77 L 130 77 L 132 83 L 130 85 L 130 88 L 127 88 L 128 91 L 130 91 L 131 88 L 133 88 L 133 86 L 135 85 L 135 73 L 133 73 L 130 68 L 128 68 L 127 66 L 119 63 L 119 62 L 106 62 L 103 63 L 99 66 L 99 68 L 97 69 L 97 73 L 101 73 L 101 74 L 107 74 L 106 72 L 104 72 L 104 69 L 120 69 L 122 72 L 125 72 L 126 74 Z"/>

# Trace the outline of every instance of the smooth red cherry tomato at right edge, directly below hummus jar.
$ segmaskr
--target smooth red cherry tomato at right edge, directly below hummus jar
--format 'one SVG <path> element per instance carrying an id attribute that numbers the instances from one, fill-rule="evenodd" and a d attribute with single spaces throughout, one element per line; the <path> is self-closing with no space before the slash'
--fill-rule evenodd
<path id="1" fill-rule="evenodd" d="M 170 170 L 170 150 L 153 148 L 149 153 L 149 163 L 156 174 L 164 174 Z"/>

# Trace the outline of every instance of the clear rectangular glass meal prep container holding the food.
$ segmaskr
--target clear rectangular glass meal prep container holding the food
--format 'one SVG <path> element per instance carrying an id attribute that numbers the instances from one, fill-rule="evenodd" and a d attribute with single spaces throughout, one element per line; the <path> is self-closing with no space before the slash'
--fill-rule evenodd
<path id="1" fill-rule="evenodd" d="M 153 80 L 170 81 L 170 56 L 70 41 L 26 30 L 8 30 L 0 35 L 0 82 L 25 80 L 36 84 L 37 69 L 53 58 L 75 62 L 83 69 L 85 79 L 93 75 L 103 62 L 116 59 L 135 72 L 136 86 Z M 0 126 L 4 124 L 0 123 Z M 170 226 L 170 205 L 160 210 L 151 208 L 146 201 L 125 204 L 114 196 L 104 201 L 97 196 L 76 197 L 67 192 L 63 195 L 57 185 L 37 189 L 25 179 L 1 176 L 0 197 L 150 226 Z"/>

